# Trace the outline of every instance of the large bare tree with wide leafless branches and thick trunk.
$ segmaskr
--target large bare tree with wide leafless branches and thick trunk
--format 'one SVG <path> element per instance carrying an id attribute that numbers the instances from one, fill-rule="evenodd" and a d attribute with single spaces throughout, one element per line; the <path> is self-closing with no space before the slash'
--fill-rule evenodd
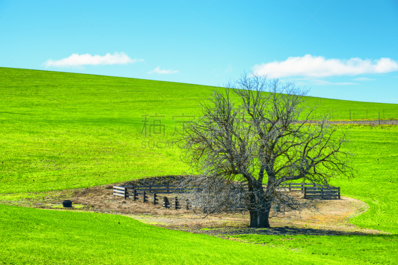
<path id="1" fill-rule="evenodd" d="M 250 227 L 270 227 L 272 205 L 283 211 L 311 206 L 280 189 L 284 182 L 328 185 L 338 175 L 352 177 L 350 154 L 341 148 L 346 132 L 327 115 L 314 117 L 306 94 L 293 83 L 246 73 L 225 91 L 215 90 L 188 127 L 183 160 L 200 175 L 185 180 L 196 188 L 184 199 L 207 213 L 243 207 Z"/>

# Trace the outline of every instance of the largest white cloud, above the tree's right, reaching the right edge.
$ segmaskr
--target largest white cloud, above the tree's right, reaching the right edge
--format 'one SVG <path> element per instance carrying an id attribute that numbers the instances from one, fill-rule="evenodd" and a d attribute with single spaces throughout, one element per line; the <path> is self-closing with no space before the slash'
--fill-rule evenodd
<path id="1" fill-rule="evenodd" d="M 383 74 L 398 71 L 398 63 L 390 58 L 378 60 L 349 60 L 325 59 L 322 56 L 310 54 L 302 57 L 289 57 L 285 61 L 256 64 L 253 72 L 259 75 L 268 75 L 269 78 L 305 76 L 328 77 L 342 75 Z"/>

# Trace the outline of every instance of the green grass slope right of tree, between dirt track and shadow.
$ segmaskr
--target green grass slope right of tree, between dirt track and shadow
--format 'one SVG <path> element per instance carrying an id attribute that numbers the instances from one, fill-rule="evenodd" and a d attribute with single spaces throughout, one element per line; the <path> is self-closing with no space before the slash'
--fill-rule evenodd
<path id="1" fill-rule="evenodd" d="M 347 128 L 347 127 L 346 127 Z M 366 202 L 369 210 L 351 219 L 366 228 L 398 234 L 398 127 L 348 126 L 355 178 L 335 179 L 345 196 Z"/>

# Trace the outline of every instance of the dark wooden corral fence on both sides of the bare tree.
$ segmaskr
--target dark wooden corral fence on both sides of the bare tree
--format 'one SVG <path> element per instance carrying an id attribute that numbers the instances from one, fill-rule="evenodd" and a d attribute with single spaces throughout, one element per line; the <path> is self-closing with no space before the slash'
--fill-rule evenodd
<path id="1" fill-rule="evenodd" d="M 247 187 L 244 188 L 248 189 Z M 182 188 L 176 185 L 113 186 L 113 195 L 124 197 L 124 199 L 130 198 L 133 201 L 163 205 L 164 208 L 194 209 L 188 202 L 180 201 L 177 196 L 177 194 L 184 193 L 186 190 L 190 190 L 190 188 Z M 277 187 L 277 190 L 301 192 L 304 194 L 304 199 L 340 199 L 340 187 L 311 183 L 283 183 Z M 174 196 L 164 196 L 165 194 L 174 194 Z M 244 211 L 245 209 L 240 210 Z"/>

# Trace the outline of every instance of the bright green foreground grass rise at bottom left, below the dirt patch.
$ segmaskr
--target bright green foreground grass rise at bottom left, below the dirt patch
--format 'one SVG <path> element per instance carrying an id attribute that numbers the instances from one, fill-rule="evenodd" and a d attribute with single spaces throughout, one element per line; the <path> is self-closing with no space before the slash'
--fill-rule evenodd
<path id="1" fill-rule="evenodd" d="M 51 228 L 51 229 L 50 229 Z M 0 264 L 359 264 L 145 225 L 129 217 L 0 205 Z"/>

